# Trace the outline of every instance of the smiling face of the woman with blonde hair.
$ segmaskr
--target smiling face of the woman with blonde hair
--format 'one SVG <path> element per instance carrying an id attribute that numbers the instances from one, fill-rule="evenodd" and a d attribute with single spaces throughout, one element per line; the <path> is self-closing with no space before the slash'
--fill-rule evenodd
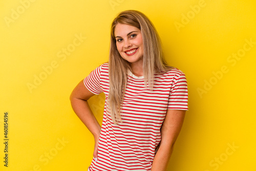
<path id="1" fill-rule="evenodd" d="M 143 63 L 143 40 L 140 29 L 134 26 L 118 23 L 115 28 L 116 47 L 121 57 L 131 63 Z"/>

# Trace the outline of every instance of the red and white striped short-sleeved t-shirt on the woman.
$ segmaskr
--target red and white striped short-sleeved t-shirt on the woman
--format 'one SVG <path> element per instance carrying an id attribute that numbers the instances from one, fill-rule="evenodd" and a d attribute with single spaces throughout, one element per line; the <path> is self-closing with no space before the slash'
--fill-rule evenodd
<path id="1" fill-rule="evenodd" d="M 153 91 L 144 86 L 143 76 L 127 74 L 121 118 L 113 124 L 107 99 L 109 95 L 108 63 L 84 78 L 94 94 L 105 94 L 103 121 L 98 144 L 98 160 L 91 171 L 151 170 L 155 150 L 161 141 L 161 125 L 167 109 L 188 110 L 187 82 L 178 69 L 155 74 Z"/>

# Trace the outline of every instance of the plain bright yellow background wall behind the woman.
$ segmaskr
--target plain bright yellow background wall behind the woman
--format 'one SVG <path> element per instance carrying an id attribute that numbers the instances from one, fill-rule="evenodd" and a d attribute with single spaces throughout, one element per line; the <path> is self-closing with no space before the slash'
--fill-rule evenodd
<path id="1" fill-rule="evenodd" d="M 108 61 L 111 22 L 127 9 L 152 20 L 168 63 L 187 77 L 189 111 L 168 170 L 256 170 L 252 0 L 0 1 L 1 170 L 87 170 L 94 140 L 69 96 Z M 250 39 L 254 44 L 246 43 Z M 242 57 L 233 58 L 236 53 Z M 35 86 L 39 75 L 44 80 Z M 103 98 L 90 99 L 100 123 Z M 8 167 L 4 112 L 9 114 Z"/>

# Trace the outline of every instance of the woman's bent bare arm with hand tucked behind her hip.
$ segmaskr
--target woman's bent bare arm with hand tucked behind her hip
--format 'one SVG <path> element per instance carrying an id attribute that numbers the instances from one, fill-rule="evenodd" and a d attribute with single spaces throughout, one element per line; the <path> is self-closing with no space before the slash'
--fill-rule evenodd
<path id="1" fill-rule="evenodd" d="M 90 106 L 87 100 L 92 97 L 94 94 L 90 92 L 86 86 L 84 86 L 83 80 L 81 80 L 73 92 L 70 95 L 70 101 L 72 108 L 78 118 L 83 122 L 84 125 L 88 128 L 88 130 L 93 134 L 95 140 L 94 153 L 93 157 L 97 157 L 97 146 L 100 135 L 100 124 L 95 118 L 90 109 Z"/>

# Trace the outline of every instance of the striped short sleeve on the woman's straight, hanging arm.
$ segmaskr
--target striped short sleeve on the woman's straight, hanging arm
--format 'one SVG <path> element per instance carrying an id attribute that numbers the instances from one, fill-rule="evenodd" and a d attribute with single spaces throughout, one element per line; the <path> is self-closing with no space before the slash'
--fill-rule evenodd
<path id="1" fill-rule="evenodd" d="M 187 80 L 184 73 L 174 77 L 174 83 L 170 89 L 167 109 L 188 110 Z"/>

